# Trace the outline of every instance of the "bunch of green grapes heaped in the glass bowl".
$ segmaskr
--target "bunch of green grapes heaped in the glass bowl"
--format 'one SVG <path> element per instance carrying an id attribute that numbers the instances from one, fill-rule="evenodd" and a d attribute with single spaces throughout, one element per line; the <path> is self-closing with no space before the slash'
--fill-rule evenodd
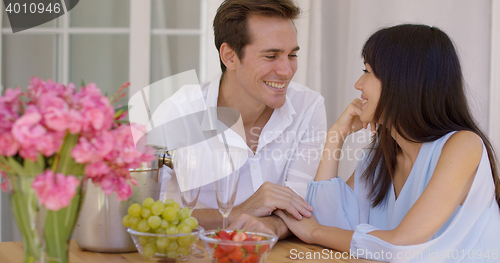
<path id="1" fill-rule="evenodd" d="M 181 209 L 173 199 L 155 202 L 153 198 L 146 198 L 142 206 L 138 203 L 132 204 L 122 223 L 125 227 L 139 232 L 168 235 L 189 234 L 198 226 L 198 220 L 191 216 L 189 208 Z M 142 255 L 146 258 L 153 257 L 156 253 L 164 254 L 168 258 L 188 256 L 191 254 L 191 245 L 196 241 L 195 235 L 139 238 L 144 248 Z"/>

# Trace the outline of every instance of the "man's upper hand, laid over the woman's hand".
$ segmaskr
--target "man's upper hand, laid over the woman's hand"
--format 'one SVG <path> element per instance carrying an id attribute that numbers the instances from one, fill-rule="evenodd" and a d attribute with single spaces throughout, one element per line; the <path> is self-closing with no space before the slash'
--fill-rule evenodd
<path id="1" fill-rule="evenodd" d="M 285 210 L 299 220 L 303 216 L 310 217 L 313 210 L 289 187 L 265 182 L 250 198 L 233 208 L 230 221 L 233 222 L 243 213 L 256 217 L 268 216 L 276 209 Z"/>

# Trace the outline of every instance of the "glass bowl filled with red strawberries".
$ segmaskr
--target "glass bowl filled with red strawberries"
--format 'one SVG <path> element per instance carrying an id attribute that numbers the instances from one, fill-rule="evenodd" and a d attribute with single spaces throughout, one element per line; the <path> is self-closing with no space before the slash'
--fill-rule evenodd
<path id="1" fill-rule="evenodd" d="M 262 263 L 266 260 L 277 236 L 242 230 L 207 230 L 200 233 L 212 262 Z"/>

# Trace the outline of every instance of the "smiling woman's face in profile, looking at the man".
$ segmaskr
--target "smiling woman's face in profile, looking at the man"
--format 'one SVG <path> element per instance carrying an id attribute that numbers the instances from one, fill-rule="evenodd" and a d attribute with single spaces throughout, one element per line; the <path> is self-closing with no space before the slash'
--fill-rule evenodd
<path id="1" fill-rule="evenodd" d="M 363 75 L 354 84 L 354 88 L 361 91 L 361 99 L 363 100 L 361 104 L 363 113 L 359 117 L 362 122 L 370 123 L 375 122 L 373 115 L 375 114 L 375 109 L 377 108 L 382 92 L 382 82 L 373 74 L 370 64 L 365 63 L 363 71 Z"/>

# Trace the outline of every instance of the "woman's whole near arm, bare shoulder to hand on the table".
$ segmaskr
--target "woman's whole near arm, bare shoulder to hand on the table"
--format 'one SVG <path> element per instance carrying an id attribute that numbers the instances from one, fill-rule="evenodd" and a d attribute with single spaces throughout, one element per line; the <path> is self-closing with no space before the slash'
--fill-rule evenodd
<path id="1" fill-rule="evenodd" d="M 408 214 L 394 230 L 369 234 L 393 245 L 415 245 L 428 241 L 463 203 L 482 156 L 481 139 L 460 131 L 443 147 L 429 184 Z M 283 211 L 275 212 L 290 231 L 306 243 L 349 251 L 354 231 L 320 225 L 314 217 L 298 221 Z"/>

